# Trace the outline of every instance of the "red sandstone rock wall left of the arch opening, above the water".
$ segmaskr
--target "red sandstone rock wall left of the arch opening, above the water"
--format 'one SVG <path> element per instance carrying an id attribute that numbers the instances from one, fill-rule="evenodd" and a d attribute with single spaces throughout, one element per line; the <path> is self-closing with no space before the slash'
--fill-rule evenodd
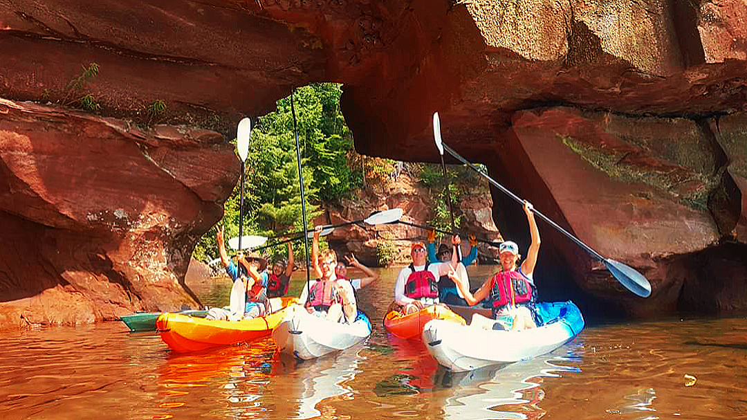
<path id="1" fill-rule="evenodd" d="M 191 250 L 238 159 L 221 135 L 0 99 L 0 326 L 199 306 Z"/>

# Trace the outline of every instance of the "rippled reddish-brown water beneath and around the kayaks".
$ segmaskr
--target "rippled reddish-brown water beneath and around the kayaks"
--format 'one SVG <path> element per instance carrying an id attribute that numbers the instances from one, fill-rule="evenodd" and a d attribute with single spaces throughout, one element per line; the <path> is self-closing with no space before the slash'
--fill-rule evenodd
<path id="1" fill-rule="evenodd" d="M 381 327 L 397 270 L 383 272 L 359 294 L 371 338 L 306 362 L 271 339 L 180 355 L 120 322 L 5 331 L 0 419 L 747 419 L 743 318 L 586 327 L 551 354 L 450 374 Z M 229 285 L 194 288 L 220 304 Z"/>

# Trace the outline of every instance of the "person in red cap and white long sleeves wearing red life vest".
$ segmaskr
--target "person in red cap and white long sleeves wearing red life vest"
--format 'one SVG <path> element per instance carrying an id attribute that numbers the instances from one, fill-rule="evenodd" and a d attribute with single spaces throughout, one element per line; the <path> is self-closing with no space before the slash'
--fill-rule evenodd
<path id="1" fill-rule="evenodd" d="M 451 238 L 456 250 L 456 235 Z M 426 306 L 439 303 L 438 280 L 456 267 L 456 252 L 453 252 L 450 262 L 427 261 L 426 247 L 422 242 L 415 242 L 410 246 L 412 264 L 403 268 L 394 286 L 394 303 L 402 306 L 402 312 L 409 314 L 417 312 Z"/>

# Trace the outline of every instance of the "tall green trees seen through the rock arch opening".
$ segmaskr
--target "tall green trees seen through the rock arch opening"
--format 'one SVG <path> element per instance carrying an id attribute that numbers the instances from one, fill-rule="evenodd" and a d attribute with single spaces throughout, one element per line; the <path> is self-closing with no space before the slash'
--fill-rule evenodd
<path id="1" fill-rule="evenodd" d="M 309 229 L 313 227 L 311 220 L 321 214 L 323 200 L 350 196 L 362 184 L 361 171 L 350 164 L 353 136 L 340 112 L 340 94 L 341 85 L 329 83 L 294 91 Z M 280 99 L 276 105 L 276 111 L 252 119 L 244 173 L 244 235 L 273 236 L 303 230 L 291 97 Z M 225 226 L 226 241 L 238 236 L 240 195 L 241 185 L 236 185 L 223 206 L 220 223 Z M 206 255 L 217 255 L 214 238 L 211 229 L 200 239 L 193 256 L 204 261 Z M 303 264 L 303 240 L 294 241 L 293 246 L 296 262 Z M 326 247 L 323 238 L 320 247 Z M 287 250 L 279 245 L 262 252 L 272 260 L 285 258 Z"/>

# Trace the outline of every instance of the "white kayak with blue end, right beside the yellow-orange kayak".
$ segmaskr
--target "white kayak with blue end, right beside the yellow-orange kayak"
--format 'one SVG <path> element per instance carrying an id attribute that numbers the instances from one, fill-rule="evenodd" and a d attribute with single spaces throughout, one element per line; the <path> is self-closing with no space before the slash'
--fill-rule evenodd
<path id="1" fill-rule="evenodd" d="M 371 321 L 362 311 L 358 311 L 353 324 L 347 324 L 310 314 L 301 305 L 290 306 L 285 318 L 273 330 L 273 340 L 280 353 L 304 360 L 350 348 L 370 335 Z"/>

